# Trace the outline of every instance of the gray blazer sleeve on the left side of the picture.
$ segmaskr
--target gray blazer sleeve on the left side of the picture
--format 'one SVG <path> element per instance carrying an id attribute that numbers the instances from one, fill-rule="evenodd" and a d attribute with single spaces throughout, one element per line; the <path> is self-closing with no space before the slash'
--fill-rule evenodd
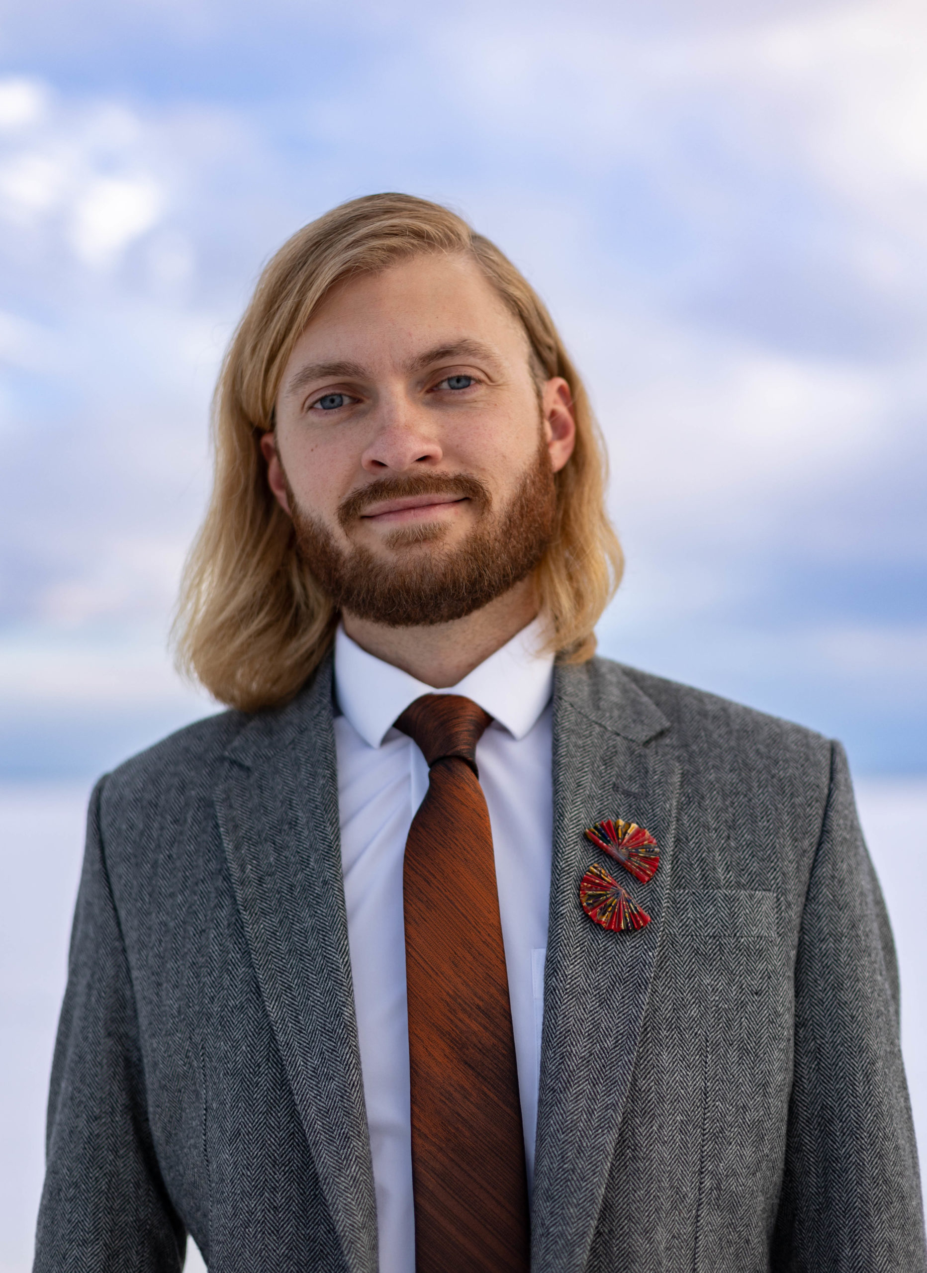
<path id="1" fill-rule="evenodd" d="M 51 1073 L 34 1273 L 173 1273 L 186 1232 L 158 1171 L 132 985 L 101 834 L 88 816 Z"/>

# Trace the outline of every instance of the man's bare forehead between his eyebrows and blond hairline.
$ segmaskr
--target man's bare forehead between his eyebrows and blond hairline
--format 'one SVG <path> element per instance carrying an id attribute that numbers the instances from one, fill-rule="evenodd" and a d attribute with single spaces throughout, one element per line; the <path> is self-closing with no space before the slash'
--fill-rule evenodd
<path id="1" fill-rule="evenodd" d="M 423 348 L 478 340 L 503 359 L 523 359 L 528 341 L 479 265 L 429 253 L 336 285 L 299 336 L 294 360 L 407 360 Z M 289 369 L 289 368 L 288 368 Z"/>

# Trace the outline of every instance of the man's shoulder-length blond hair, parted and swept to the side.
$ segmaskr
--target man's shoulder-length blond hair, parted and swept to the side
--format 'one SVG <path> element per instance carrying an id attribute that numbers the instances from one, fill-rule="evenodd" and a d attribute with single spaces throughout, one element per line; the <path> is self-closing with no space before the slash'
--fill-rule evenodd
<path id="1" fill-rule="evenodd" d="M 295 341 L 349 275 L 421 252 L 466 253 L 521 321 L 540 378 L 562 376 L 577 437 L 555 475 L 555 532 L 536 568 L 548 648 L 595 651 L 593 628 L 621 577 L 605 510 L 606 454 L 586 390 L 544 303 L 502 252 L 447 207 L 411 195 L 354 199 L 298 230 L 266 266 L 232 339 L 213 410 L 215 481 L 187 559 L 174 622 L 178 667 L 222 703 L 253 712 L 292 698 L 329 651 L 337 614 L 297 550 L 260 452 Z"/>

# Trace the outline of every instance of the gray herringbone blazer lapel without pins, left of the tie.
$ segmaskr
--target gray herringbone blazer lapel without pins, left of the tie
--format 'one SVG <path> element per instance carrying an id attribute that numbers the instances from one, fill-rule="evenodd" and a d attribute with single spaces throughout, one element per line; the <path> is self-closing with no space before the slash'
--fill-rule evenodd
<path id="1" fill-rule="evenodd" d="M 351 1273 L 376 1273 L 377 1217 L 348 948 L 331 659 L 227 752 L 215 792 L 257 981 Z"/>

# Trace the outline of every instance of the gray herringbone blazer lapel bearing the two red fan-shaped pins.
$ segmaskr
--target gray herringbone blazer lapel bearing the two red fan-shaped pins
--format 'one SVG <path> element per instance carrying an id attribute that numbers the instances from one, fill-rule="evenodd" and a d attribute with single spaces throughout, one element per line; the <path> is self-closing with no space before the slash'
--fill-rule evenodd
<path id="1" fill-rule="evenodd" d="M 615 666 L 556 670 L 554 854 L 544 987 L 541 1087 L 532 1199 L 534 1273 L 586 1267 L 611 1167 L 663 927 L 679 768 L 661 756 L 669 722 Z M 660 868 L 639 885 L 583 831 L 620 816 L 652 831 Z M 621 877 L 651 923 L 592 923 L 579 881 L 592 862 Z"/>

